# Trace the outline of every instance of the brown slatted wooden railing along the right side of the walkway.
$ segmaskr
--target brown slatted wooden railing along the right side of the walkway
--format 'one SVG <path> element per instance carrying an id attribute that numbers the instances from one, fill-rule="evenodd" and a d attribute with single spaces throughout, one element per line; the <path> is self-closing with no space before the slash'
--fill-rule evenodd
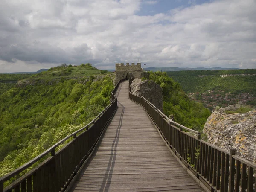
<path id="1" fill-rule="evenodd" d="M 129 98 L 145 108 L 175 155 L 211 192 L 255 192 L 256 164 L 201 140 L 200 132 L 172 121 L 130 87 Z"/>

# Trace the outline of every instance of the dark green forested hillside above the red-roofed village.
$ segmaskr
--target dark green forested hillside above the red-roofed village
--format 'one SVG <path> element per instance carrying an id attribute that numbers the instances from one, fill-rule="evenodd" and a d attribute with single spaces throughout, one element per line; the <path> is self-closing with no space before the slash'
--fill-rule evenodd
<path id="1" fill-rule="evenodd" d="M 207 90 L 225 90 L 232 93 L 256 94 L 256 69 L 247 70 L 196 70 L 166 72 L 179 82 L 187 93 L 205 92 Z M 222 77 L 221 75 L 233 75 Z M 243 76 L 239 74 L 251 74 Z"/>

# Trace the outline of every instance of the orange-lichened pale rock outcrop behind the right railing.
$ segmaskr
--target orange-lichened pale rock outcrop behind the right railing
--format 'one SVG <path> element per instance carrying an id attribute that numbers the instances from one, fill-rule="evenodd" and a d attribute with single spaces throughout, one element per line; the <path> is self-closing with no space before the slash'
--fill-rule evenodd
<path id="1" fill-rule="evenodd" d="M 256 109 L 247 113 L 226 114 L 244 105 L 230 105 L 212 113 L 204 125 L 208 142 L 256 163 Z"/>

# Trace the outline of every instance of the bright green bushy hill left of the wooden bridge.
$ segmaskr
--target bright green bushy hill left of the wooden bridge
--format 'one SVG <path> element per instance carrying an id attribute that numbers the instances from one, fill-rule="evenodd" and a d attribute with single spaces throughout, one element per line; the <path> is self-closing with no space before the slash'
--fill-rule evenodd
<path id="1" fill-rule="evenodd" d="M 62 65 L 26 79 L 62 77 L 52 85 L 36 81 L 0 95 L 0 176 L 83 127 L 109 104 L 114 76 L 101 73 L 90 64 Z"/>

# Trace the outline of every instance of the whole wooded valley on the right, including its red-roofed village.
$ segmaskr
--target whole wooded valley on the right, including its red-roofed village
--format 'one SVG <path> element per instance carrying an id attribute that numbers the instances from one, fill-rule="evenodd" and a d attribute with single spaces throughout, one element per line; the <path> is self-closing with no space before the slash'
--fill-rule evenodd
<path id="1" fill-rule="evenodd" d="M 256 106 L 256 69 L 166 72 L 189 98 L 210 110 L 242 103 Z"/>

